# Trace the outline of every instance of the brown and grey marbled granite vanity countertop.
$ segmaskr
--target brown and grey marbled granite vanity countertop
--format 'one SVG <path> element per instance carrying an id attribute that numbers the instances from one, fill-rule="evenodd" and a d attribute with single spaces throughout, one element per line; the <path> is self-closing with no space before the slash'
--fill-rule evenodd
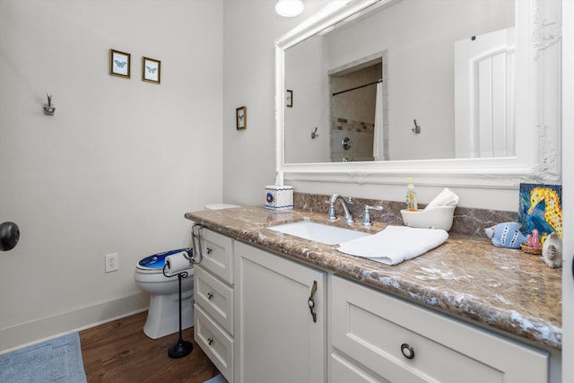
<path id="1" fill-rule="evenodd" d="M 377 232 L 360 222 L 328 222 L 324 213 L 291 210 L 274 212 L 263 206 L 186 213 L 186 218 L 234 239 L 282 253 L 286 257 L 344 275 L 439 309 L 456 318 L 516 335 L 561 350 L 561 269 L 552 269 L 539 257 L 520 250 L 495 248 L 490 239 L 450 235 L 421 257 L 399 265 L 384 265 L 336 250 L 337 245 L 300 239 L 268 226 L 297 222 L 334 224 L 358 231 Z"/>

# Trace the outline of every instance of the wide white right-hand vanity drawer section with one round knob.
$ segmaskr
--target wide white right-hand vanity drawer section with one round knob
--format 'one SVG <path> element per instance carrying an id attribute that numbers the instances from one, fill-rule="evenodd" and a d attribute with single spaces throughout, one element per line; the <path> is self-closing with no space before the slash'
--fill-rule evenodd
<path id="1" fill-rule="evenodd" d="M 549 355 L 338 276 L 329 382 L 544 383 Z"/>

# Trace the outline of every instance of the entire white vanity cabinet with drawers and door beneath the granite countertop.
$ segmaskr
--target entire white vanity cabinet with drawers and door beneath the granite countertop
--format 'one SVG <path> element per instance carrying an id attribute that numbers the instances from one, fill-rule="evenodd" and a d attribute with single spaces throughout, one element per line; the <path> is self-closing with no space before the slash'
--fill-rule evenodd
<path id="1" fill-rule="evenodd" d="M 195 339 L 230 383 L 556 376 L 544 350 L 215 231 L 201 234 Z"/>

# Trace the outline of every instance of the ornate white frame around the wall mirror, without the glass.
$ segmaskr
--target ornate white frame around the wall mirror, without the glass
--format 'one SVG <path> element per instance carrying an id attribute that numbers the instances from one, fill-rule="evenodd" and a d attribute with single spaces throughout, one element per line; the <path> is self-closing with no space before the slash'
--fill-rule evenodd
<path id="1" fill-rule="evenodd" d="M 290 181 L 517 188 L 522 182 L 561 181 L 560 0 L 516 0 L 517 155 L 506 158 L 285 163 L 285 50 L 345 18 L 396 0 L 352 0 L 310 17 L 275 40 L 276 171 Z M 370 12 L 370 10 L 368 10 Z M 309 129 L 311 127 L 309 126 Z M 522 134 L 524 133 L 524 134 Z"/>

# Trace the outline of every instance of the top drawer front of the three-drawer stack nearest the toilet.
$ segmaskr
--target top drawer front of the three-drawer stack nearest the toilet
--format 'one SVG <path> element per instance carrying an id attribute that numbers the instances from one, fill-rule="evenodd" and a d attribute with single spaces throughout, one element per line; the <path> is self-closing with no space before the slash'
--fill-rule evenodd
<path id="1" fill-rule="evenodd" d="M 233 239 L 205 228 L 200 229 L 200 235 L 203 255 L 200 265 L 233 284 Z"/>

